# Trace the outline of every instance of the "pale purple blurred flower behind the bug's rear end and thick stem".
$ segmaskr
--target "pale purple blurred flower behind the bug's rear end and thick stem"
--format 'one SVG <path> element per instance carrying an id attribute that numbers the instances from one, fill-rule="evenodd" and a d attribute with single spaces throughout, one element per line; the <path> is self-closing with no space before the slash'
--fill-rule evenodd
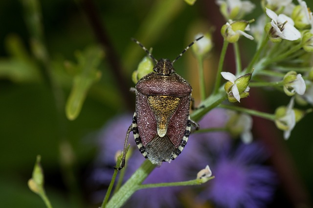
<path id="1" fill-rule="evenodd" d="M 113 166 L 115 165 L 114 156 L 116 151 L 123 148 L 126 131 L 132 123 L 132 118 L 131 114 L 117 116 L 110 120 L 98 134 L 97 143 L 100 152 L 88 181 L 89 186 L 98 189 L 92 196 L 92 201 L 95 203 L 100 203 L 104 198 L 106 190 L 103 187 L 108 186 L 111 181 Z M 125 181 L 145 160 L 135 145 L 133 133 L 130 134 L 128 142 L 131 143 L 131 148 L 134 151 L 128 160 Z M 196 174 L 188 174 L 190 173 L 189 170 L 196 167 L 195 161 L 204 161 L 198 154 L 196 142 L 188 140 L 188 144 L 175 160 L 171 163 L 163 162 L 159 168 L 152 171 L 143 183 L 166 183 L 195 179 Z M 204 166 L 202 165 L 202 167 Z M 165 206 L 176 208 L 179 206 L 177 195 L 181 190 L 183 190 L 181 187 L 138 190 L 127 204 L 131 207 L 158 208 Z"/>

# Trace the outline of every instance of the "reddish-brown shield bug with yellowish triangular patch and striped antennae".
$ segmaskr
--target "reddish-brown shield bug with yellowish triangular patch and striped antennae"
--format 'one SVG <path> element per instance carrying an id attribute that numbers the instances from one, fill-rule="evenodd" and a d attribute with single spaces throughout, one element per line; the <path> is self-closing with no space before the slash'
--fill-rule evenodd
<path id="1" fill-rule="evenodd" d="M 190 43 L 174 61 L 163 58 L 156 60 L 140 42 L 133 39 L 156 65 L 154 72 L 139 79 L 135 88 L 131 89 L 136 94 L 136 109 L 133 123 L 126 133 L 122 164 L 115 169 L 120 170 L 125 166 L 131 131 L 142 155 L 153 164 L 160 165 L 164 161 L 171 162 L 181 153 L 188 141 L 191 124 L 199 128 L 189 116 L 192 88 L 176 74 L 173 63 L 202 37 Z"/>

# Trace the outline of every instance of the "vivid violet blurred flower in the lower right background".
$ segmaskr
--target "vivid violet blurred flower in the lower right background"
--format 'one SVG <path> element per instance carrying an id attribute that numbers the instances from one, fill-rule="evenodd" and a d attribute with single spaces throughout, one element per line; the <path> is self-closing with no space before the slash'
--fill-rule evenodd
<path id="1" fill-rule="evenodd" d="M 240 144 L 234 151 L 226 145 L 211 164 L 215 179 L 201 197 L 222 208 L 262 208 L 272 200 L 276 175 L 261 165 L 268 154 L 260 143 Z"/>

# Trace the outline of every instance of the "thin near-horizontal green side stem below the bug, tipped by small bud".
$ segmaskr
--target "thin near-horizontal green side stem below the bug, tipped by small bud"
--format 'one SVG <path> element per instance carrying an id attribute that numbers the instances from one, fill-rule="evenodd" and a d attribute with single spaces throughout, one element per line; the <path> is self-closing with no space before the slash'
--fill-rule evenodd
<path id="1" fill-rule="evenodd" d="M 209 178 L 173 182 L 173 183 L 143 184 L 139 186 L 139 189 L 150 189 L 150 188 L 158 188 L 158 187 L 175 187 L 175 186 L 195 186 L 195 185 L 201 185 L 213 178 L 214 176 L 211 176 Z"/>

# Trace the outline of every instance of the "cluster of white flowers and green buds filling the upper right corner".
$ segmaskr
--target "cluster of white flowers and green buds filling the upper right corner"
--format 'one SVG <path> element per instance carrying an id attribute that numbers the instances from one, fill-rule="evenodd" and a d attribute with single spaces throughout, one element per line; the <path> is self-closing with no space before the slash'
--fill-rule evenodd
<path id="1" fill-rule="evenodd" d="M 295 101 L 299 104 L 312 103 L 310 73 L 311 52 L 313 52 L 313 14 L 306 2 L 298 0 L 298 5 L 294 5 L 291 0 L 262 0 L 265 13 L 257 18 L 255 25 L 251 26 L 252 36 L 244 32 L 248 30 L 252 21 L 229 19 L 231 14 L 238 10 L 236 5 L 243 5 L 246 2 L 236 1 L 232 4 L 228 1 L 223 1 L 223 3 L 218 1 L 217 3 L 221 6 L 221 11 L 224 10 L 222 7 L 225 3 L 228 5 L 228 16 L 224 15 L 228 18 L 228 22 L 221 30 L 224 41 L 238 47 L 237 42 L 240 36 L 251 40 L 254 36 L 258 42 L 256 54 L 246 68 L 240 68 L 240 56 L 235 51 L 236 73 L 221 72 L 221 76 L 227 80 L 224 90 L 229 102 L 240 102 L 241 98 L 248 97 L 251 87 L 274 87 L 275 89 L 282 88 L 282 92 L 286 95 L 296 97 Z M 252 9 L 248 6 L 247 8 Z M 243 18 L 246 13 L 248 12 L 241 11 L 240 18 Z M 241 26 L 238 27 L 237 24 Z M 281 81 L 270 82 L 281 77 L 283 77 Z M 293 107 L 293 98 L 291 100 Z M 291 110 L 282 111 L 280 108 L 274 115 L 266 115 L 284 131 L 285 138 L 290 137 L 291 130 L 295 126 L 295 119 L 292 119 L 291 112 Z M 310 110 L 305 112 L 310 112 Z M 297 121 L 303 116 L 298 117 Z"/>

